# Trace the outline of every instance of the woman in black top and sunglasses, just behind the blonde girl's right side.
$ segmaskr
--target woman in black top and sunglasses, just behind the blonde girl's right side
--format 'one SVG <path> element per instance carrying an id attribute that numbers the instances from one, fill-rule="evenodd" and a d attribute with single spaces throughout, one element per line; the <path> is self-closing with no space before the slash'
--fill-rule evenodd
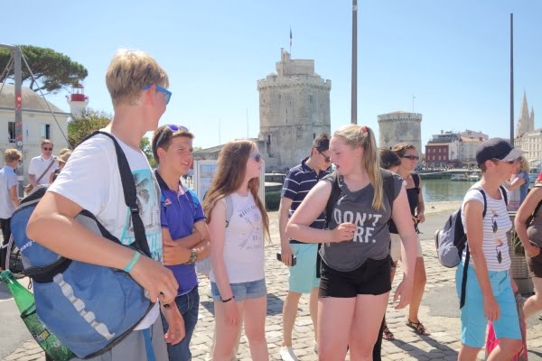
<path id="1" fill-rule="evenodd" d="M 397 153 L 401 159 L 401 165 L 399 165 L 398 174 L 406 181 L 406 197 L 408 198 L 408 205 L 410 206 L 410 214 L 412 215 L 412 222 L 416 229 L 416 233 L 419 233 L 417 225 L 425 222 L 425 204 L 424 196 L 422 195 L 422 180 L 419 174 L 415 172 L 416 165 L 419 160 L 419 156 L 416 147 L 413 144 L 398 143 L 391 148 L 392 151 Z M 390 224 L 389 231 L 391 233 L 391 246 L 392 246 L 392 259 L 394 264 L 401 260 L 401 253 L 398 252 L 400 242 L 399 235 L 397 234 L 397 227 Z M 414 273 L 414 291 L 412 293 L 412 301 L 408 306 L 408 317 L 406 319 L 406 326 L 413 329 L 418 335 L 429 335 L 424 324 L 418 319 L 418 311 L 420 304 L 422 303 L 422 297 L 425 291 L 425 264 L 424 255 L 422 253 L 422 245 L 419 237 L 416 237 L 416 269 Z M 389 329 L 385 329 L 389 332 Z M 391 337 L 390 337 L 391 335 Z M 393 339 L 393 334 L 390 332 L 385 335 L 387 339 Z"/>

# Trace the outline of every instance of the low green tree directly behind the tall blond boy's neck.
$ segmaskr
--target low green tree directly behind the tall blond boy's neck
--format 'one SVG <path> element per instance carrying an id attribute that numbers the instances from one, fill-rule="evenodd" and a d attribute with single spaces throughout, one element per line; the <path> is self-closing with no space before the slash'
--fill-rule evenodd
<path id="1" fill-rule="evenodd" d="M 70 123 L 68 123 L 68 141 L 72 147 L 75 147 L 77 144 L 81 143 L 87 135 L 106 127 L 109 122 L 111 122 L 111 116 L 106 112 L 87 108 L 79 118 L 72 119 Z M 149 138 L 146 136 L 141 138 L 139 148 L 145 153 L 151 166 L 154 167 L 156 162 L 154 162 L 153 150 Z"/>

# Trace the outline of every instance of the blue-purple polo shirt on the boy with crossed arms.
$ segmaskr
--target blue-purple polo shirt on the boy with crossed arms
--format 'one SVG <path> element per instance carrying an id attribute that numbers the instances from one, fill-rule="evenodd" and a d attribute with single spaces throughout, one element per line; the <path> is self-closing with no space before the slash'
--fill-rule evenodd
<path id="1" fill-rule="evenodd" d="M 188 187 L 182 186 L 181 180 L 179 180 L 179 190 L 170 190 L 158 171 L 155 171 L 155 174 L 162 193 L 160 201 L 162 227 L 169 229 L 173 240 L 191 235 L 194 224 L 205 220 L 196 193 Z M 198 276 L 194 264 L 166 265 L 166 267 L 173 271 L 177 282 L 179 282 L 178 295 L 188 293 L 198 286 Z"/>

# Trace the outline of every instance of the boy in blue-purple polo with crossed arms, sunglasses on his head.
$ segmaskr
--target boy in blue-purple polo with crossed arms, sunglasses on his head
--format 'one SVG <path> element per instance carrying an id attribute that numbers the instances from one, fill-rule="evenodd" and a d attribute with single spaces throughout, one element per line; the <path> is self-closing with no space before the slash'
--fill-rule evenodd
<path id="1" fill-rule="evenodd" d="M 192 165 L 193 134 L 181 125 L 163 125 L 153 136 L 153 154 L 158 163 L 156 179 L 162 193 L 160 220 L 164 264 L 173 271 L 179 292 L 175 299 L 184 319 L 186 337 L 168 345 L 170 361 L 192 360 L 190 341 L 198 321 L 200 295 L 194 263 L 209 255 L 209 230 L 201 203 L 181 177 Z M 163 318 L 164 329 L 167 321 Z"/>

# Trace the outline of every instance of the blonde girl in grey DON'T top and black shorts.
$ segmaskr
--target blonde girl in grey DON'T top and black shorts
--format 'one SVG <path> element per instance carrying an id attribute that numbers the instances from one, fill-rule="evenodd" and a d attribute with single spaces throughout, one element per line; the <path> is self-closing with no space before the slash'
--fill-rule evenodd
<path id="1" fill-rule="evenodd" d="M 341 127 L 332 136 L 330 153 L 337 172 L 313 187 L 290 218 L 286 234 L 322 243 L 320 359 L 343 360 L 350 347 L 350 360 L 370 360 L 391 290 L 388 220 L 396 222 L 406 249 L 405 276 L 394 297 L 394 301 L 400 298 L 396 309 L 410 301 L 416 234 L 403 180 L 380 169 L 375 136 L 368 126 Z M 310 227 L 326 208 L 333 187 L 339 187 L 340 194 L 328 229 Z"/>

